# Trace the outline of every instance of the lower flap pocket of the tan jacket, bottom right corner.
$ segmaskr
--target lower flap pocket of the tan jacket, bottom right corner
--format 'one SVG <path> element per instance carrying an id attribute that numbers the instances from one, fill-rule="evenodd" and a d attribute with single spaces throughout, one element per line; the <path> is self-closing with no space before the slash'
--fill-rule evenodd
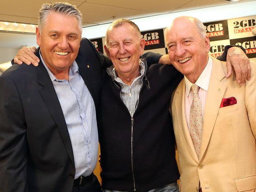
<path id="1" fill-rule="evenodd" d="M 256 189 L 256 175 L 247 177 L 240 177 L 234 180 L 238 192 L 255 192 Z"/>

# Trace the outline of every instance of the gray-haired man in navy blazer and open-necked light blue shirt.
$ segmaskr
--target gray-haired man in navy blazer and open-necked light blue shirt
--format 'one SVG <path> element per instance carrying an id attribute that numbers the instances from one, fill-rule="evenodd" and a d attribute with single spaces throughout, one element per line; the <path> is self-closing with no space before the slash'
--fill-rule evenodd
<path id="1" fill-rule="evenodd" d="M 88 89 L 95 111 L 100 95 L 101 66 L 107 60 L 88 39 L 81 42 L 79 49 L 80 12 L 74 6 L 61 3 L 47 6 L 43 9 L 49 11 L 49 15 L 37 28 L 39 66 L 15 64 L 0 76 L 0 191 L 100 192 L 99 181 L 93 175 L 98 156 L 97 124 L 92 128 L 88 126 L 89 133 L 86 126 L 79 126 L 89 134 L 80 142 L 92 140 L 84 142 L 88 144 L 85 147 L 89 157 L 81 158 L 82 162 L 88 162 L 81 168 L 76 162 L 80 154 L 74 150 L 77 144 L 73 143 L 71 132 L 77 129 L 73 124 L 80 125 L 88 119 L 68 120 L 66 114 L 73 106 L 65 112 L 63 107 L 71 101 L 58 97 L 61 92 L 54 82 L 64 79 L 71 83 L 76 63 L 79 73 L 75 75 L 80 82 L 84 81 L 77 92 L 82 97 L 84 94 L 80 92 Z M 50 74 L 57 80 L 52 81 Z M 78 107 L 82 108 L 82 104 Z M 92 116 L 96 122 L 95 113 L 92 112 Z M 94 145 L 94 152 L 90 144 Z M 79 173 L 79 169 L 83 172 Z"/>

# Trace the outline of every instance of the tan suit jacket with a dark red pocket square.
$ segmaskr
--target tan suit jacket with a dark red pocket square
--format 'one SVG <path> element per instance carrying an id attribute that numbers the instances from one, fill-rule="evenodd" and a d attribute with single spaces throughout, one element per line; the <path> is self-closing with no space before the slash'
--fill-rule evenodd
<path id="1" fill-rule="evenodd" d="M 252 78 L 239 86 L 225 78 L 226 63 L 213 58 L 198 159 L 185 119 L 185 81 L 172 97 L 172 117 L 179 154 L 181 192 L 255 192 L 256 188 L 256 65 Z M 234 74 L 234 73 L 233 73 Z M 222 98 L 237 104 L 220 108 Z"/>

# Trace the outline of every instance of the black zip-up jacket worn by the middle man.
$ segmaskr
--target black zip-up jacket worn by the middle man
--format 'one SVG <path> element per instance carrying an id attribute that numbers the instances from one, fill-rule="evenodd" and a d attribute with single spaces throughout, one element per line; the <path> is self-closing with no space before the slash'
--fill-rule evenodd
<path id="1" fill-rule="evenodd" d="M 150 65 L 132 118 L 112 69 L 108 73 L 111 76 L 107 72 L 102 76 L 97 116 L 103 189 L 143 192 L 176 182 L 179 171 L 169 106 L 183 75 L 172 65 Z"/>

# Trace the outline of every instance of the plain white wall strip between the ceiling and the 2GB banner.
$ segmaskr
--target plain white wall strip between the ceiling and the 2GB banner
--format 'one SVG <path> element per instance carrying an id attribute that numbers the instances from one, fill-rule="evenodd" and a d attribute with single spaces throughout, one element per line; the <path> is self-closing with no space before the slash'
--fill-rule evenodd
<path id="1" fill-rule="evenodd" d="M 179 16 L 191 16 L 200 19 L 202 22 L 221 21 L 238 17 L 246 17 L 256 14 L 256 1 L 228 4 L 224 6 L 214 6 L 202 9 L 193 9 L 176 13 L 168 13 L 139 19 L 131 19 L 135 22 L 140 31 L 166 28 L 173 19 Z M 82 37 L 88 39 L 105 37 L 108 24 L 85 27 L 82 29 Z"/>

